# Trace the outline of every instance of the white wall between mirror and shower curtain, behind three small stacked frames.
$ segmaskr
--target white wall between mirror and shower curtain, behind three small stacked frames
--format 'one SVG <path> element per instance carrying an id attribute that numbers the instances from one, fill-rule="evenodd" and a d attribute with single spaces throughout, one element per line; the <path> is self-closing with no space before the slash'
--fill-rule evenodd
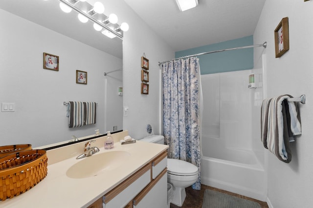
<path id="1" fill-rule="evenodd" d="M 136 138 L 146 136 L 146 125 L 151 124 L 155 134 L 161 134 L 160 68 L 158 61 L 175 57 L 174 51 L 159 38 L 133 10 L 128 11 L 130 29 L 124 33 L 123 41 L 123 105 L 129 107 L 128 116 L 123 117 L 123 128 Z M 149 59 L 149 95 L 141 91 L 141 57 Z"/>

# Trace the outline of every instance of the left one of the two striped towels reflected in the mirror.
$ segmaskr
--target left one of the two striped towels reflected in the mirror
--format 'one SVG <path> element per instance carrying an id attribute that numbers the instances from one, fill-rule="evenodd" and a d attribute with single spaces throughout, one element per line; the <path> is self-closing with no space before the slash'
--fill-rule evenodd
<path id="1" fill-rule="evenodd" d="M 83 102 L 69 101 L 68 127 L 75 128 L 84 125 L 84 105 Z"/>

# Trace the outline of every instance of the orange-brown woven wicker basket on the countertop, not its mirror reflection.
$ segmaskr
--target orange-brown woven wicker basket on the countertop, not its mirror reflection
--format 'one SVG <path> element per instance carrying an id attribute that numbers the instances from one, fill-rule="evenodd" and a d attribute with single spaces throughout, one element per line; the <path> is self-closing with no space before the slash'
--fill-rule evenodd
<path id="1" fill-rule="evenodd" d="M 33 188 L 47 175 L 45 150 L 27 150 L 0 158 L 0 201 Z"/>

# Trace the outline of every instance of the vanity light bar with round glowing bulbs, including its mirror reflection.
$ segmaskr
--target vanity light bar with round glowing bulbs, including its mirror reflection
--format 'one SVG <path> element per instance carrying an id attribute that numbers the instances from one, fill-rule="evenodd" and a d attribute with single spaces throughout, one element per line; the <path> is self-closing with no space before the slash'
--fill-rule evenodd
<path id="1" fill-rule="evenodd" d="M 97 31 L 101 31 L 103 35 L 109 38 L 118 37 L 123 39 L 123 32 L 129 29 L 129 25 L 123 22 L 121 25 L 117 24 L 118 18 L 115 14 L 111 14 L 109 17 L 103 14 L 104 6 L 101 2 L 97 1 L 93 4 L 89 4 L 86 0 L 59 0 L 60 7 L 64 12 L 71 12 L 74 10 L 78 12 L 78 19 L 81 22 L 87 22 L 90 20 L 93 22 L 93 28 Z M 78 3 L 80 2 L 80 3 Z M 88 12 L 84 12 L 86 8 L 89 8 Z M 97 14 L 97 15 L 95 15 Z M 95 19 L 95 17 L 97 19 Z"/>

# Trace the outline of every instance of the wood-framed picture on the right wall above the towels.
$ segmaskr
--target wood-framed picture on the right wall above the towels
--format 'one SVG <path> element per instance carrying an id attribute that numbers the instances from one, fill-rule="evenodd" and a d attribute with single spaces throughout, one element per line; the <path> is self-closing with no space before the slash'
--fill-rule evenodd
<path id="1" fill-rule="evenodd" d="M 289 24 L 288 17 L 283 18 L 275 31 L 275 57 L 281 57 L 289 50 Z"/>

